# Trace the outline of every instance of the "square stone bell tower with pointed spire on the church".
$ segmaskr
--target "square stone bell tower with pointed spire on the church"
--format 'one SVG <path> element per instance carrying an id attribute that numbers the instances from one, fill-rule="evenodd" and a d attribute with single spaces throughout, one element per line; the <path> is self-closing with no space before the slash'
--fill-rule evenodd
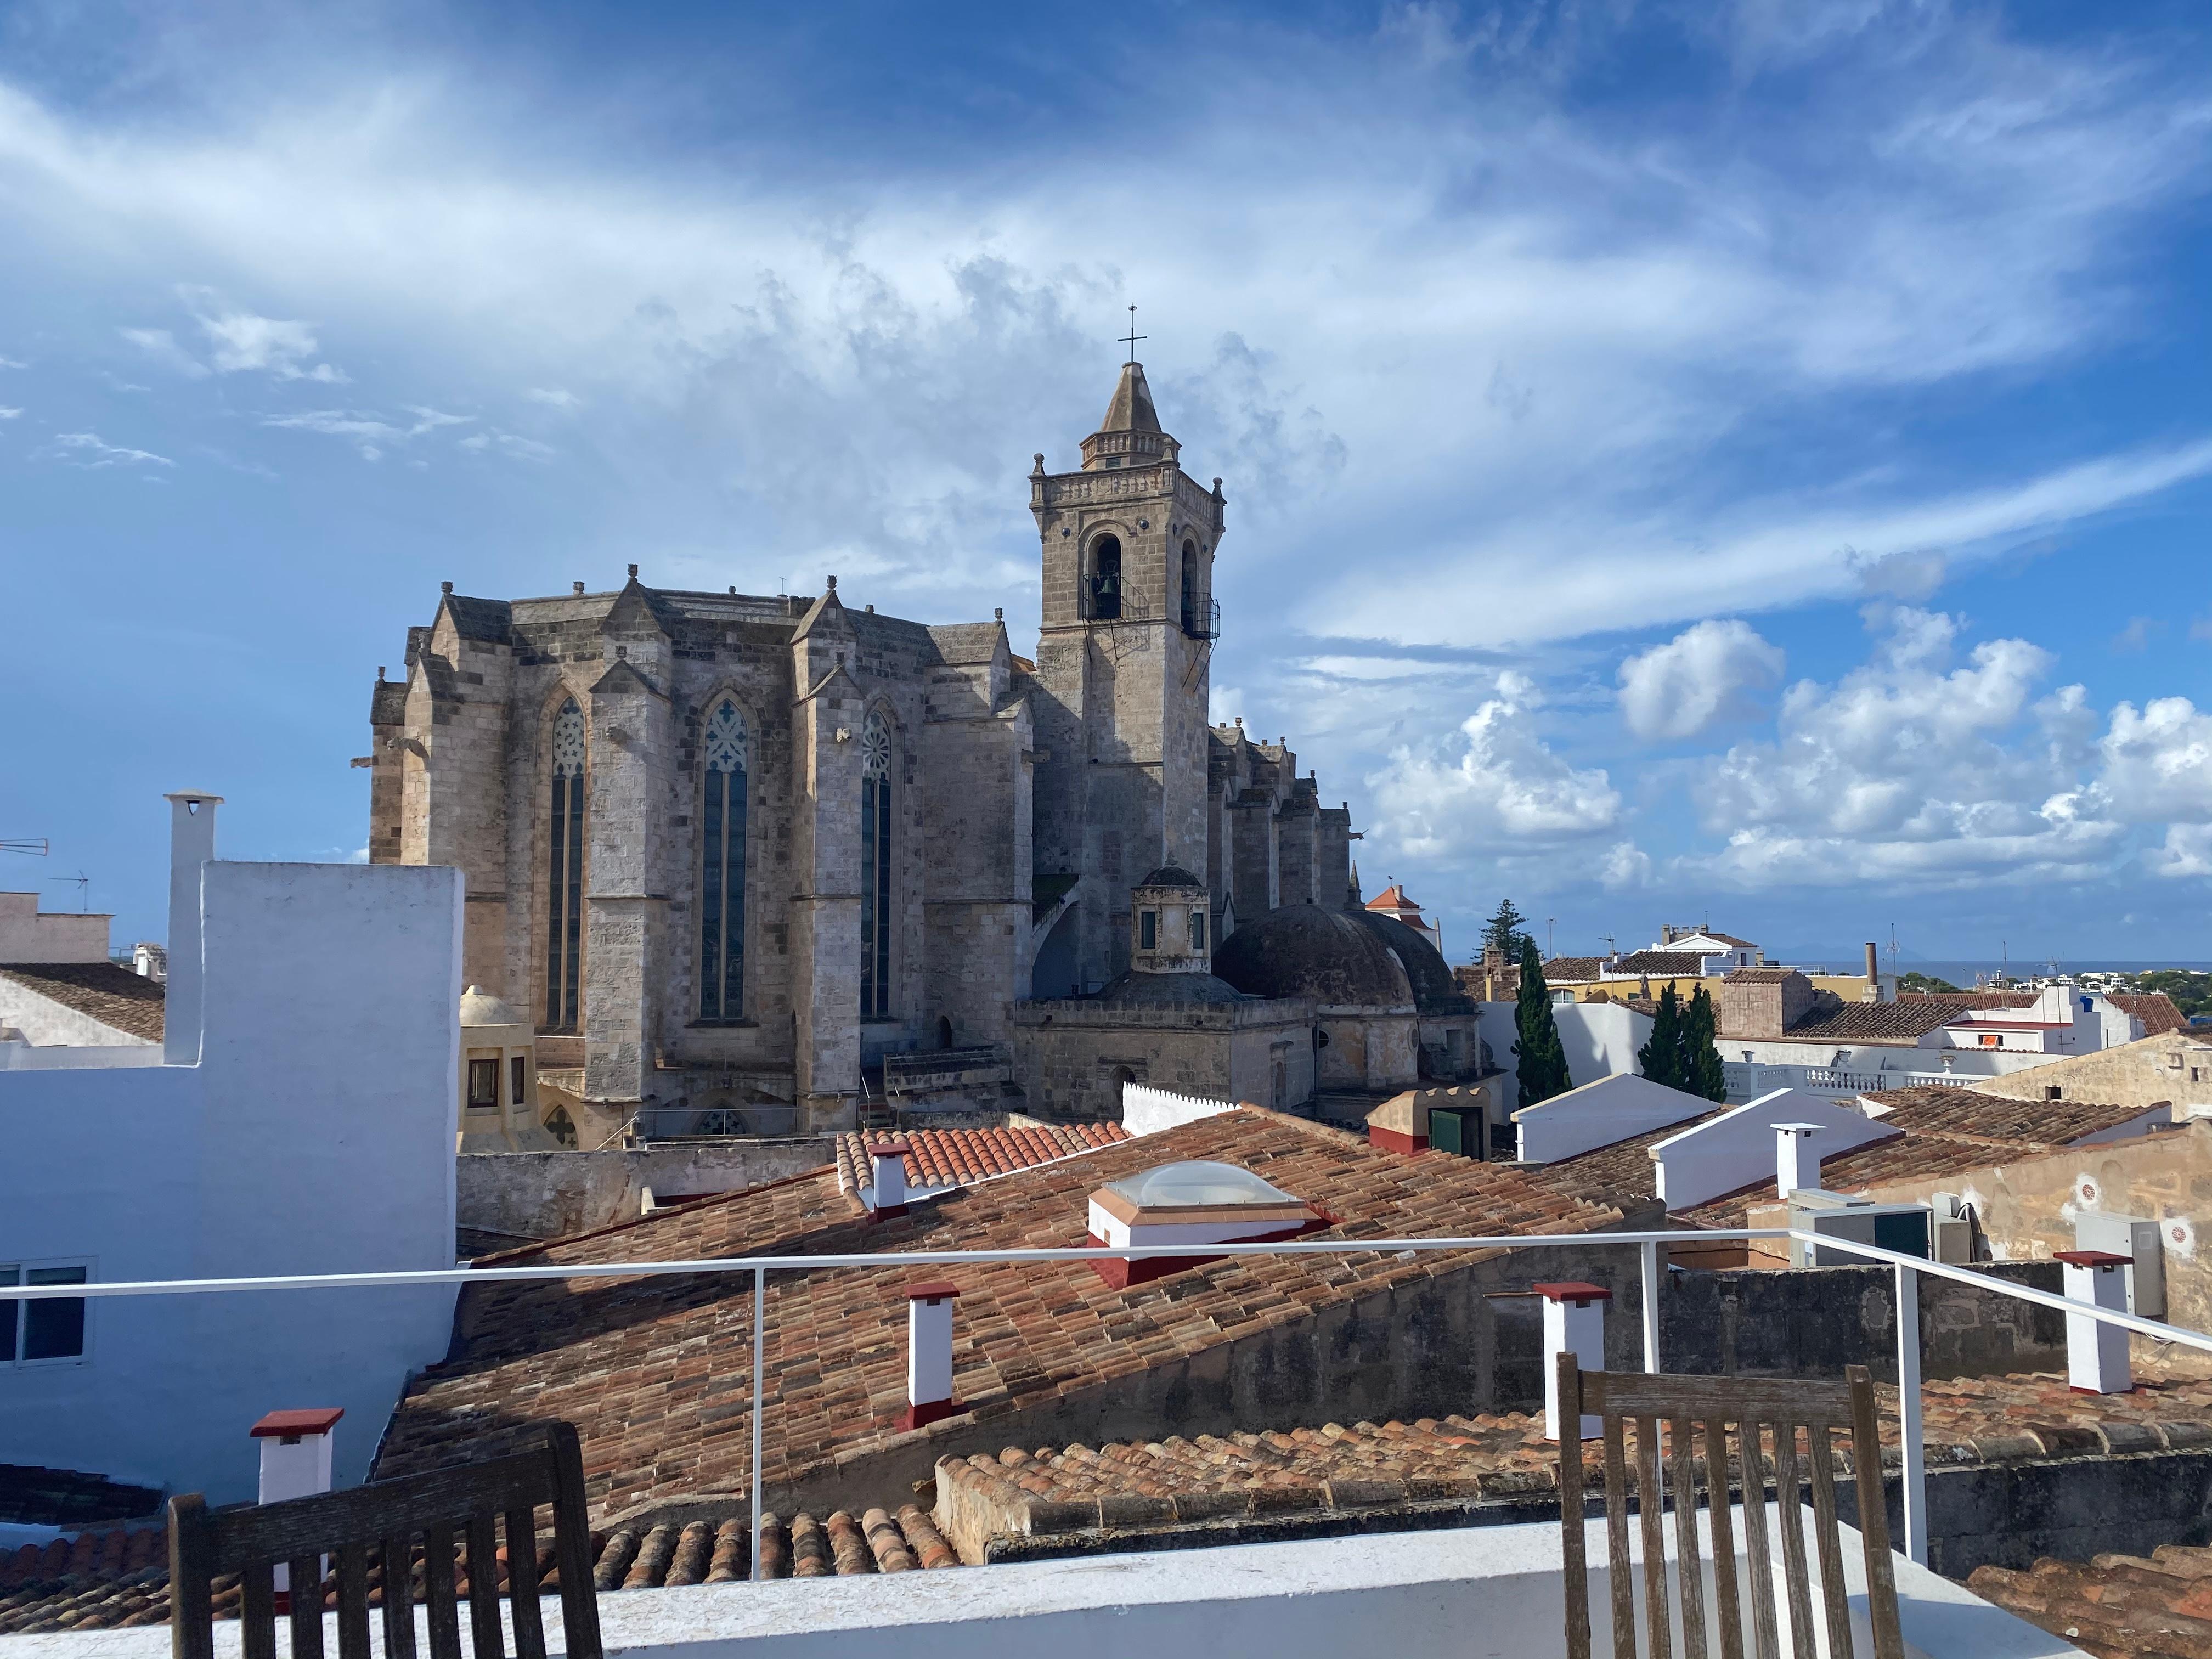
<path id="1" fill-rule="evenodd" d="M 1082 467 L 1029 476 L 1044 542 L 1037 876 L 1079 876 L 1077 987 L 1128 967 L 1130 883 L 1206 869 L 1206 768 L 1221 480 L 1199 487 L 1121 367 Z"/>

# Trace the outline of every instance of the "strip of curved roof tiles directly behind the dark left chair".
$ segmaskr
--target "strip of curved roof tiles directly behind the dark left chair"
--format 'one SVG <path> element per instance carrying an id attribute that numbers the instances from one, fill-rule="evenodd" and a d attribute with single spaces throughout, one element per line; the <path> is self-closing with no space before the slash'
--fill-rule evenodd
<path id="1" fill-rule="evenodd" d="M 456 1593 L 469 1593 L 469 1546 L 460 1540 L 453 1568 Z M 681 1584 L 730 1584 L 752 1571 L 745 1515 L 666 1524 L 622 1524 L 591 1535 L 593 1588 L 659 1590 Z M 843 1509 L 827 1520 L 770 1513 L 761 1517 L 761 1577 L 852 1577 L 863 1573 L 911 1573 L 960 1566 L 936 1522 L 914 1504 L 869 1509 L 858 1520 Z M 507 1559 L 500 1559 L 500 1590 L 507 1590 Z M 540 1588 L 560 1586 L 553 1542 L 538 1544 Z M 422 1546 L 411 1562 L 411 1590 L 420 1604 Z M 239 1617 L 239 1577 L 215 1579 L 210 1608 L 217 1619 Z M 369 1606 L 385 1604 L 383 1551 L 369 1548 Z M 323 1579 L 323 1608 L 338 1606 L 336 1568 Z M 0 1637 L 49 1630 L 113 1630 L 168 1621 L 168 1531 L 135 1533 L 113 1528 L 82 1533 L 46 1546 L 24 1544 L 0 1555 Z"/>

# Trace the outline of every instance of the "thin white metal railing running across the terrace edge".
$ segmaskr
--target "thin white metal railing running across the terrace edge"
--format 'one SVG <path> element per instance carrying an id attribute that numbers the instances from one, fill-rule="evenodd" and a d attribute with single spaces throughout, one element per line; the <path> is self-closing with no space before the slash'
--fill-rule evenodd
<path id="1" fill-rule="evenodd" d="M 1896 1274 L 1898 1307 L 1898 1440 L 1905 1495 L 1905 1555 L 1918 1564 L 1929 1557 L 1927 1449 L 1920 1422 L 1920 1274 L 1953 1279 L 1962 1285 L 2011 1296 L 2035 1307 L 2051 1307 L 2070 1318 L 2117 1325 L 2137 1336 L 2150 1336 L 2179 1347 L 2212 1354 L 2212 1334 L 2185 1325 L 2168 1325 L 2141 1314 L 2121 1314 L 2095 1303 L 2055 1296 L 1973 1267 L 1907 1256 L 1880 1245 L 1838 1239 L 1803 1228 L 1674 1228 L 1668 1232 L 1509 1232 L 1471 1239 L 1281 1239 L 1274 1243 L 1190 1243 L 1172 1245 L 1082 1245 L 1073 1250 L 887 1250 L 880 1254 L 823 1256 L 706 1256 L 699 1261 L 593 1261 L 557 1267 L 427 1267 L 414 1272 L 363 1274 L 272 1274 L 261 1279 L 146 1279 L 84 1285 L 0 1285 L 0 1301 L 108 1298 L 108 1296 L 206 1296 L 246 1290 L 356 1290 L 405 1285 L 480 1285 L 533 1279 L 657 1279 L 664 1274 L 752 1274 L 752 1582 L 761 1579 L 761 1376 L 768 1363 L 768 1274 L 810 1272 L 816 1267 L 905 1267 L 905 1265 L 987 1265 L 995 1261 L 1146 1261 L 1150 1256 L 1369 1256 L 1411 1254 L 1420 1250 L 1568 1250 L 1626 1248 L 1639 1254 L 1639 1307 L 1644 1316 L 1644 1369 L 1659 1371 L 1659 1250 L 1661 1245 L 1750 1243 L 1752 1239 L 1794 1239 L 1820 1250 L 1843 1250 L 1887 1265 Z M 1907 1310 L 1911 1316 L 1907 1318 Z"/>

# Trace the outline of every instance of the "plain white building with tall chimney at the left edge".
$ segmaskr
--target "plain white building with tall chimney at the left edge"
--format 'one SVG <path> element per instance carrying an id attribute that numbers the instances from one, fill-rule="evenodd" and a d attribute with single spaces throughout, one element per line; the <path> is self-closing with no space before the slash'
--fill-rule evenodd
<path id="1" fill-rule="evenodd" d="M 223 863 L 217 799 L 170 807 L 161 1042 L 0 1044 L 0 1283 L 451 1267 L 460 872 Z M 0 1303 L 0 1464 L 232 1502 L 261 1413 L 343 1407 L 358 1480 L 451 1310 L 451 1287 Z"/>

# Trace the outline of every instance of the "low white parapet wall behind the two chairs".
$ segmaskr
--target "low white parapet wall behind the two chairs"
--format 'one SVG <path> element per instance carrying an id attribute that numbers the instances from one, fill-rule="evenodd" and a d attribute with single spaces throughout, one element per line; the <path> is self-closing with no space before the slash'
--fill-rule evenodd
<path id="1" fill-rule="evenodd" d="M 1705 1515 L 1697 1517 L 1697 1531 L 1710 1551 Z M 1778 1562 L 1772 1506 L 1767 1531 Z M 1849 1526 L 1840 1533 L 1856 1646 L 1874 1652 L 1858 1533 Z M 1630 1559 L 1641 1571 L 1639 1528 L 1628 1540 Z M 1610 1652 L 1604 1522 L 1584 1528 L 1584 1551 L 1597 1652 Z M 1818 1559 L 1812 1540 L 1805 1553 Z M 1736 1568 L 1741 1584 L 1750 1571 L 1741 1553 Z M 1909 1655 L 2084 1659 L 2079 1648 L 1924 1566 L 1893 1557 L 1891 1571 Z M 1774 1599 L 1787 1652 L 1787 1595 L 1778 1590 Z M 1639 1613 L 1641 1606 L 1639 1595 Z M 1750 1597 L 1743 1606 L 1750 1608 Z M 1820 1606 L 1818 1593 L 1814 1606 Z M 509 1615 L 509 1604 L 502 1601 L 500 1613 Z M 546 1646 L 560 1650 L 560 1601 L 542 1601 L 540 1617 Z M 336 1613 L 323 1615 L 323 1652 L 338 1650 L 336 1619 Z M 858 1652 L 891 1652 L 898 1659 L 1343 1659 L 1347 1652 L 1564 1659 L 1566 1597 L 1559 1524 L 1531 1522 L 1088 1555 L 949 1573 L 633 1590 L 599 1597 L 599 1635 L 608 1652 L 633 1659 L 849 1659 Z M 283 1644 L 283 1635 L 276 1639 Z M 1827 1650 L 1825 1630 L 1818 1630 L 1818 1648 Z M 168 1659 L 168 1650 L 166 1626 L 9 1637 L 7 1648 L 11 1659 Z M 383 1626 L 374 1617 L 369 1650 L 383 1652 Z M 507 1650 L 515 1650 L 511 1632 Z M 1686 1650 L 1679 1626 L 1672 1650 Z M 1754 1644 L 1745 1639 L 1743 1650 L 1754 1650 Z M 217 1619 L 217 1659 L 237 1659 L 239 1652 L 239 1621 Z M 429 1652 L 427 1608 L 416 1608 L 416 1652 Z"/>

